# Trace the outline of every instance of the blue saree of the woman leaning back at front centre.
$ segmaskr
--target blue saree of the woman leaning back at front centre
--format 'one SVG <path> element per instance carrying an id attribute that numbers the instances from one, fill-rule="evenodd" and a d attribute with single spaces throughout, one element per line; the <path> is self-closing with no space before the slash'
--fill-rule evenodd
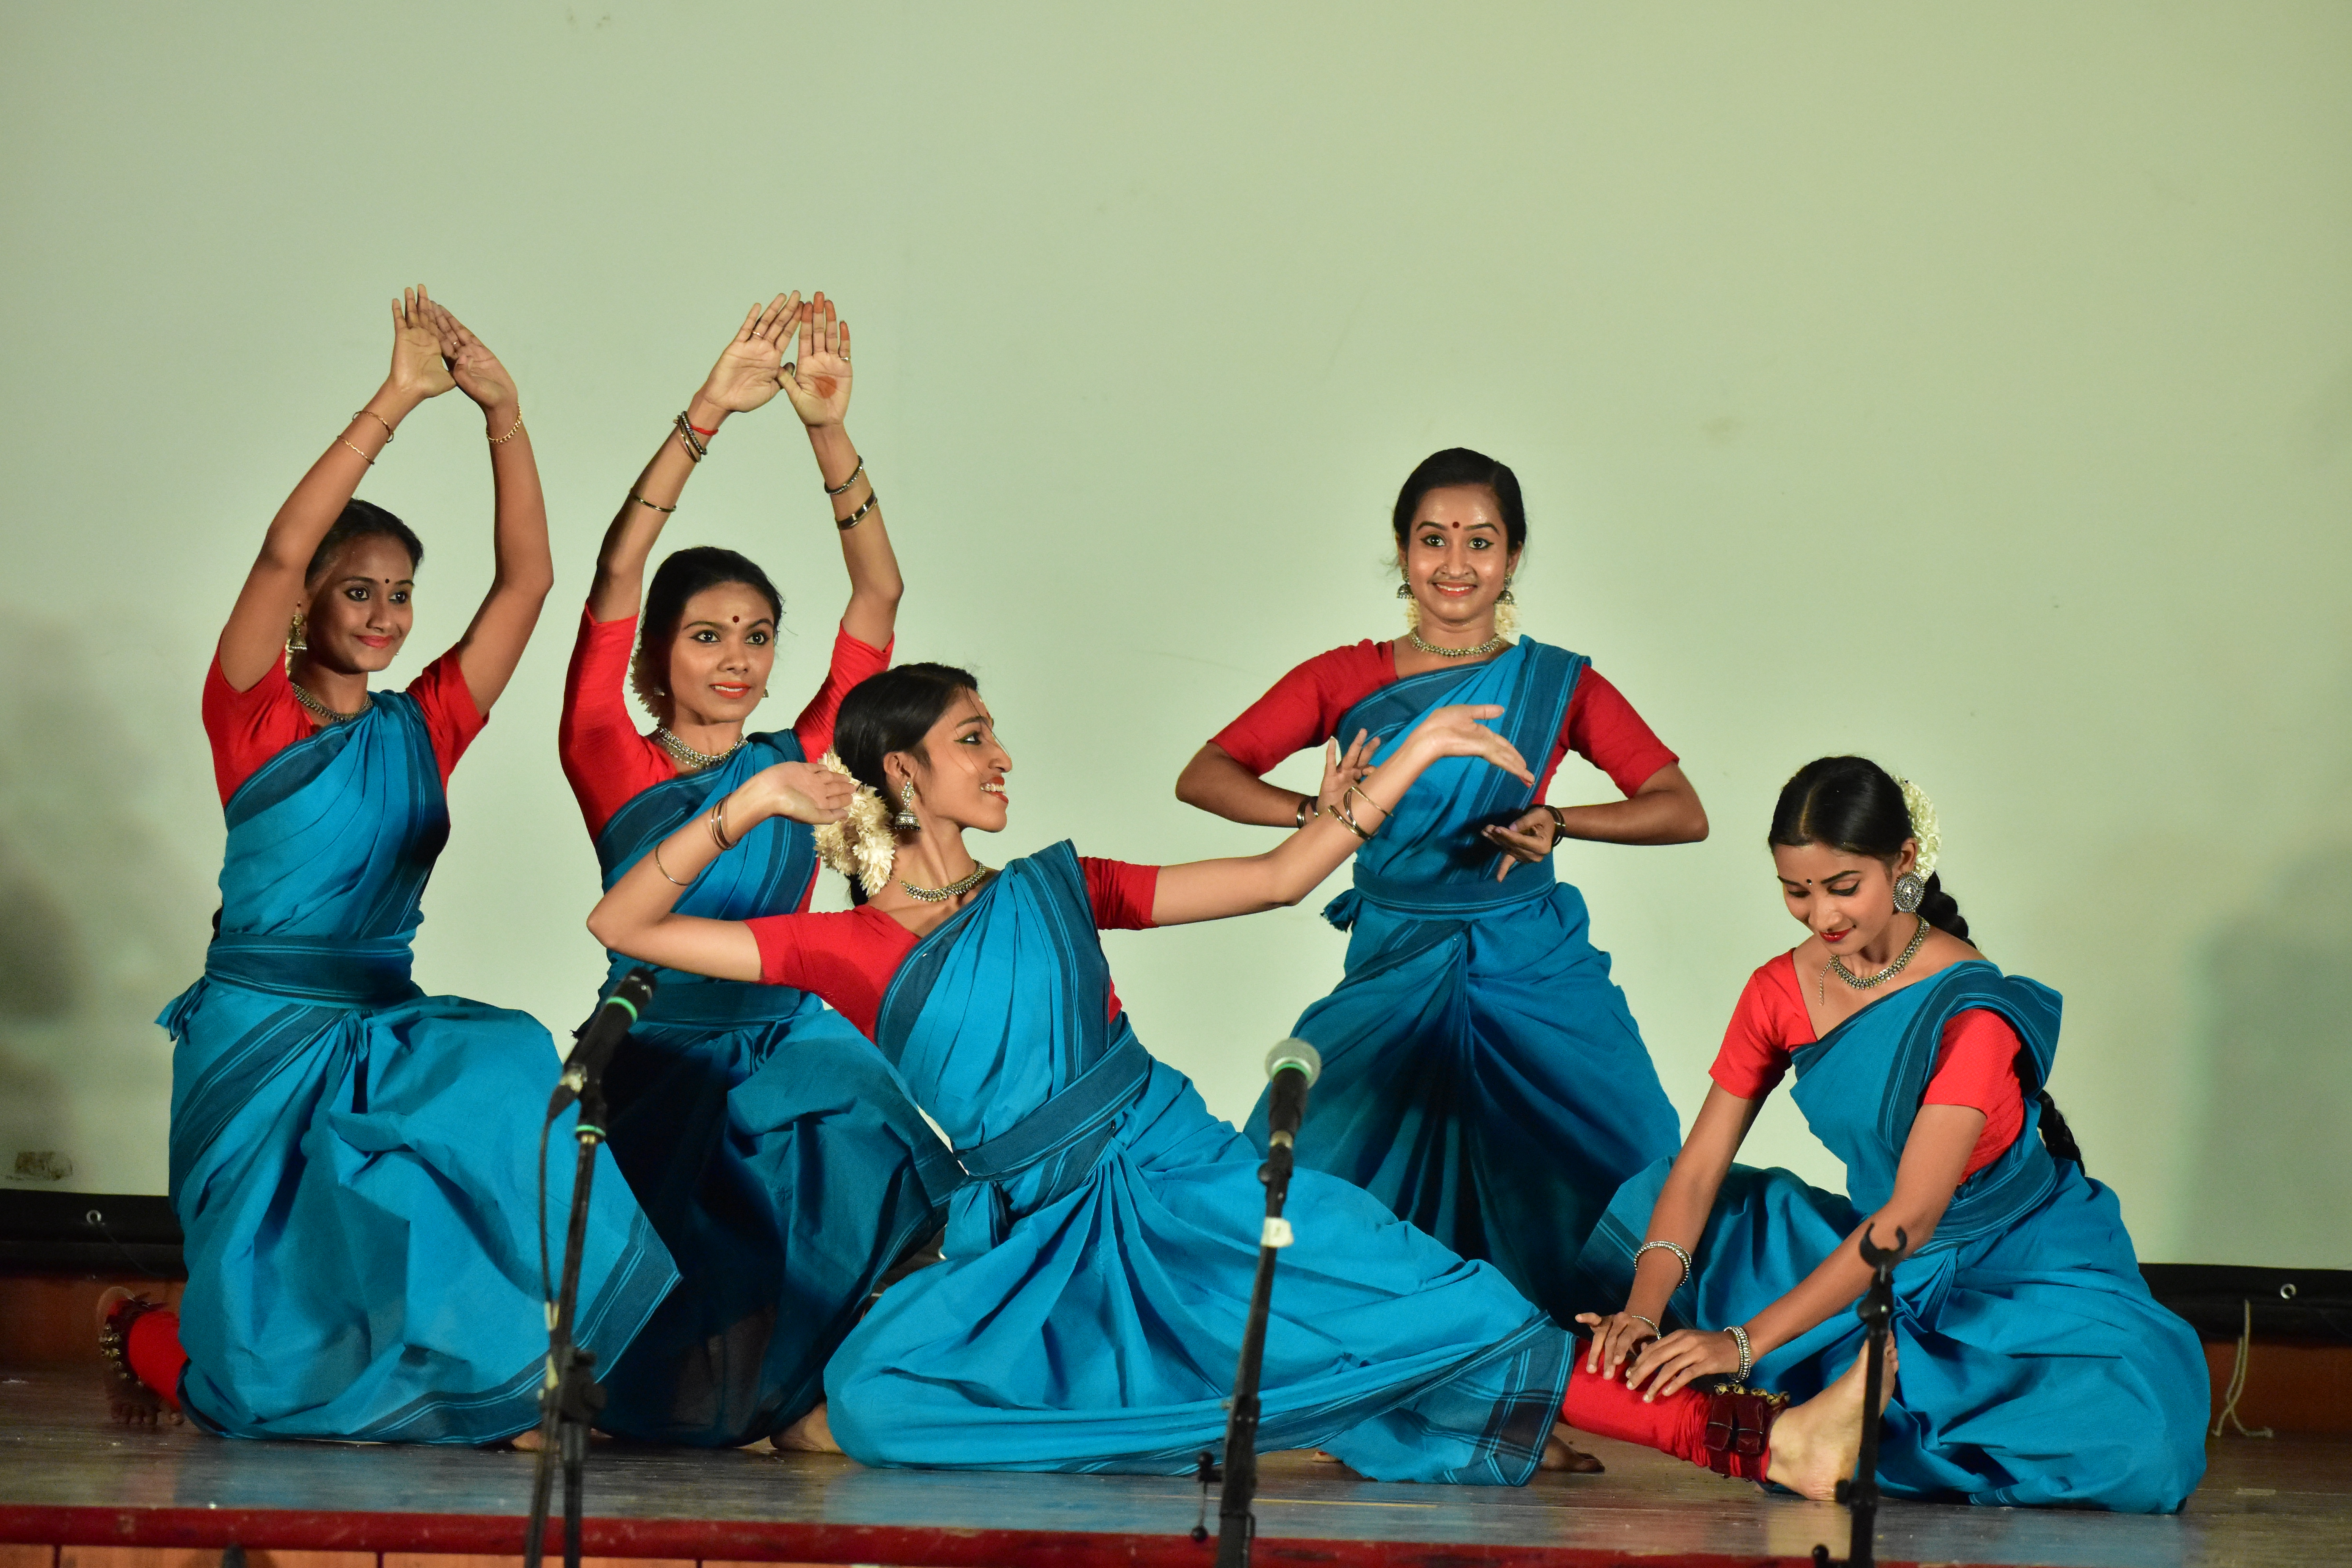
<path id="1" fill-rule="evenodd" d="M 1265 1190 L 1258 1154 L 1155 1063 L 1068 844 L 1014 860 L 915 945 L 875 1030 L 957 1145 L 946 1262 L 826 1373 L 868 1465 L 1183 1474 L 1225 1432 Z M 1265 1335 L 1261 1448 L 1376 1479 L 1519 1483 L 1569 1340 L 1489 1265 L 1298 1171 Z"/>

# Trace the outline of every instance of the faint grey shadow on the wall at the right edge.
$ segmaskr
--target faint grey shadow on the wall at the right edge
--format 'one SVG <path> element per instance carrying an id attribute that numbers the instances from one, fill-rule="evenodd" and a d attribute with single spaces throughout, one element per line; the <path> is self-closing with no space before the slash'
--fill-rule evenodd
<path id="1" fill-rule="evenodd" d="M 2204 954 L 2199 1262 L 2352 1267 L 2352 849 L 2300 856 Z"/>

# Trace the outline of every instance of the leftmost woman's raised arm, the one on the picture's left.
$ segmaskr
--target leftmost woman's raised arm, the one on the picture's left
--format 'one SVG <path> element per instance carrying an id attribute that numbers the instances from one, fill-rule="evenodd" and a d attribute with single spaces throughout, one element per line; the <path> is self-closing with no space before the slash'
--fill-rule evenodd
<path id="1" fill-rule="evenodd" d="M 270 517 L 261 555 L 245 574 L 238 604 L 221 628 L 221 675 L 233 689 L 252 691 L 254 682 L 285 656 L 287 623 L 301 609 L 310 555 L 350 505 L 360 477 L 390 444 L 393 430 L 416 404 L 456 386 L 442 364 L 442 336 L 430 320 L 433 310 L 423 287 L 405 289 L 393 301 L 393 369 Z"/>

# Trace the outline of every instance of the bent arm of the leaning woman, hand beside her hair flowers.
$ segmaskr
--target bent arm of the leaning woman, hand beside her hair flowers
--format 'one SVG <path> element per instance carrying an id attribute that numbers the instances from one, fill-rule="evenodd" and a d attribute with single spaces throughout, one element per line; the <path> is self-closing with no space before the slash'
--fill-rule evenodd
<path id="1" fill-rule="evenodd" d="M 795 823 L 837 823 L 856 783 L 811 762 L 779 762 L 736 785 L 717 806 L 720 832 L 741 839 L 771 816 Z M 663 969 L 717 980 L 757 980 L 760 940 L 739 919 L 677 914 L 677 896 L 722 853 L 710 813 L 691 818 L 654 853 L 640 858 L 588 912 L 588 931 L 604 947 Z"/>

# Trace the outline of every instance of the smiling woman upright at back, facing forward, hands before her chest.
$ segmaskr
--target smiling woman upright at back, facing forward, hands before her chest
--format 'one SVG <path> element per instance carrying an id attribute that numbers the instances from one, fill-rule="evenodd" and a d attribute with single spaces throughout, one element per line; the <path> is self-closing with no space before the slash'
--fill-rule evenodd
<path id="1" fill-rule="evenodd" d="M 1291 827 L 1329 799 L 1258 776 L 1341 738 L 1350 771 L 1385 762 L 1432 708 L 1498 703 L 1541 776 L 1444 764 L 1355 858 L 1324 910 L 1348 973 L 1294 1030 L 1322 1051 L 1298 1159 L 1362 1185 L 1465 1258 L 1486 1258 L 1562 1324 L 1588 1305 L 1573 1258 L 1618 1185 L 1675 1150 L 1675 1107 L 1642 1046 L 1583 893 L 1552 875 L 1559 839 L 1686 844 L 1698 792 L 1581 654 L 1505 642 L 1526 543 L 1519 482 L 1468 449 L 1423 461 L 1392 517 L 1411 630 L 1298 665 L 1204 745 L 1178 799 Z M 1352 743 L 1350 743 L 1352 738 Z M 1576 750 L 1625 792 L 1548 806 Z M 1265 1143 L 1265 1103 L 1249 1119 Z"/>

